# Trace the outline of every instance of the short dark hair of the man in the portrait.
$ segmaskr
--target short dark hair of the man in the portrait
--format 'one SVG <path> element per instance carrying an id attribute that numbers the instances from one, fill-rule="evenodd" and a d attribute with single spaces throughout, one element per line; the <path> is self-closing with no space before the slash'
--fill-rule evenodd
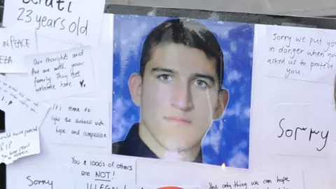
<path id="1" fill-rule="evenodd" d="M 146 37 L 141 52 L 140 75 L 144 76 L 153 48 L 160 43 L 183 44 L 202 50 L 209 59 L 216 60 L 219 89 L 223 85 L 223 52 L 216 36 L 204 25 L 194 20 L 174 18 L 155 27 Z"/>

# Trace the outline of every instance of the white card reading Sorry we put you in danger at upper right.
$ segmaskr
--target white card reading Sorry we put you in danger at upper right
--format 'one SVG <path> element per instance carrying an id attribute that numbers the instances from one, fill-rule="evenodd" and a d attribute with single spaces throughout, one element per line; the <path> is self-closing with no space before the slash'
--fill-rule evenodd
<path id="1" fill-rule="evenodd" d="M 333 83 L 336 43 L 335 30 L 262 26 L 258 50 L 266 76 Z M 261 27 L 260 27 L 261 30 Z"/>

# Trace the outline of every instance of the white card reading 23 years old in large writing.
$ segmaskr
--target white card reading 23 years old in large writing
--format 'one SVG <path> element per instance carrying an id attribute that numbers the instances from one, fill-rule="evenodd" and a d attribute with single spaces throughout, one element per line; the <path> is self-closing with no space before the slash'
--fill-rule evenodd
<path id="1" fill-rule="evenodd" d="M 5 1 L 4 27 L 34 27 L 37 34 L 97 47 L 104 0 Z"/>

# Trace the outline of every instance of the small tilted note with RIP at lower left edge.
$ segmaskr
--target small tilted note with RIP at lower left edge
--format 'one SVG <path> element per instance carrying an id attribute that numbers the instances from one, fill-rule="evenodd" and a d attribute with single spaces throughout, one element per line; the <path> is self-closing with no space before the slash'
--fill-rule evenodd
<path id="1" fill-rule="evenodd" d="M 0 159 L 6 165 L 38 153 L 40 137 L 37 126 L 0 134 Z"/>

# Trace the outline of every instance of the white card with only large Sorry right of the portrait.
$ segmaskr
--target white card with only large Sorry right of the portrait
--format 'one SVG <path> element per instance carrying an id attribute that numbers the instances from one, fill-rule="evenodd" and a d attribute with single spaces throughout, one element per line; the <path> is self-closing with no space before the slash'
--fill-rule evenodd
<path id="1" fill-rule="evenodd" d="M 274 124 L 269 125 L 270 151 L 279 155 L 328 157 L 336 123 L 335 106 L 278 104 L 269 113 L 274 118 Z"/>

